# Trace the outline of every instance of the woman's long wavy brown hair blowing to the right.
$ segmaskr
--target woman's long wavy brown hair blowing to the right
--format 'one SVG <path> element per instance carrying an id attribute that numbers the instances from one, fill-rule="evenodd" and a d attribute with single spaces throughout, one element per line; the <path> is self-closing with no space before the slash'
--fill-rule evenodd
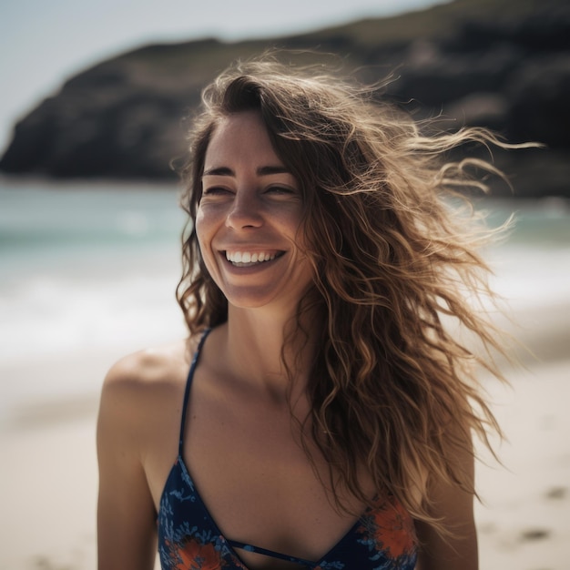
<path id="1" fill-rule="evenodd" d="M 377 92 L 270 58 L 231 66 L 204 90 L 184 170 L 189 224 L 178 302 L 191 333 L 228 318 L 193 222 L 219 121 L 259 110 L 304 200 L 301 231 L 314 287 L 286 338 L 293 345 L 304 333 L 300 315 L 317 311 L 311 412 L 301 427 L 309 426 L 305 437 L 330 466 L 323 484 L 341 509 L 340 489 L 368 501 L 358 477 L 364 466 L 379 494 L 395 495 L 414 517 L 437 526 L 425 499 L 430 484 L 443 478 L 473 493 L 456 457 L 473 454 L 472 432 L 489 444 L 489 429 L 498 430 L 475 372 L 483 365 L 500 376 L 489 353 L 501 350 L 482 305 L 473 304 L 490 293 L 477 249 L 493 232 L 462 198 L 464 189 L 485 189 L 473 173 L 500 173 L 479 159 L 446 157 L 465 143 L 505 145 L 481 128 L 422 135 Z M 461 341 L 450 321 L 483 350 Z M 294 363 L 286 364 L 294 373 Z"/>

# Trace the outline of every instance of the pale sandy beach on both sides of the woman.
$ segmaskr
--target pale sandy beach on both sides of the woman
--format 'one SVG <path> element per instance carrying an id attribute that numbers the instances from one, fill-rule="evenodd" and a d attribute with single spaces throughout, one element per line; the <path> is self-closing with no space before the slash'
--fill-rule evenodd
<path id="1" fill-rule="evenodd" d="M 485 382 L 508 442 L 478 467 L 482 570 L 565 570 L 570 559 L 570 303 L 518 311 L 517 336 L 534 351 L 512 384 Z M 58 375 L 97 386 L 121 351 L 0 367 L 8 382 Z M 65 379 L 64 379 L 65 380 Z M 3 426 L 2 548 L 5 570 L 96 568 L 97 392 L 30 397 Z"/>

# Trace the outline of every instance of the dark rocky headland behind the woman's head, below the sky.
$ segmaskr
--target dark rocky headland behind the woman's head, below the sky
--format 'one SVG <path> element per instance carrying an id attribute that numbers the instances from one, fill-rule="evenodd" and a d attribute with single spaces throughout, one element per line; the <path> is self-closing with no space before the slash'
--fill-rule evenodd
<path id="1" fill-rule="evenodd" d="M 385 97 L 448 127 L 492 127 L 543 150 L 496 155 L 518 195 L 570 196 L 570 3 L 455 0 L 312 34 L 144 46 L 72 77 L 15 126 L 0 170 L 55 178 L 174 178 L 199 92 L 237 57 L 278 46 L 342 56 Z"/>

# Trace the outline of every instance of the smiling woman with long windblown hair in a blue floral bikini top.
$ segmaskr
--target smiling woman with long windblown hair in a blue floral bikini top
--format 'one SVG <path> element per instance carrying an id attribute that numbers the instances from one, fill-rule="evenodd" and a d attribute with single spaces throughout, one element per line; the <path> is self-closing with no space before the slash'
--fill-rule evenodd
<path id="1" fill-rule="evenodd" d="M 203 101 L 189 336 L 107 375 L 99 568 L 152 568 L 157 541 L 164 569 L 477 568 L 472 433 L 496 424 L 443 320 L 496 347 L 466 300 L 486 291 L 482 231 L 446 199 L 484 165 L 442 156 L 496 140 L 422 137 L 269 58 Z"/>

